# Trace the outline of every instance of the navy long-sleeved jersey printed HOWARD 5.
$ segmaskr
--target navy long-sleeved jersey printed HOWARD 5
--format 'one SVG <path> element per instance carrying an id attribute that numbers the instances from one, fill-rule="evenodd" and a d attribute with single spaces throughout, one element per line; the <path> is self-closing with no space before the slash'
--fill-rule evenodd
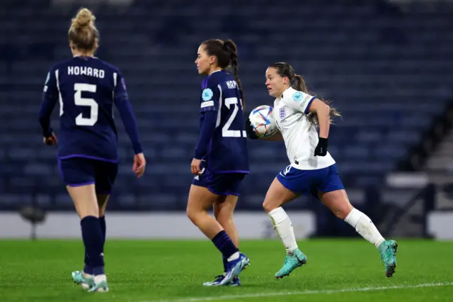
<path id="1" fill-rule="evenodd" d="M 52 108 L 59 100 L 58 156 L 117 161 L 117 130 L 113 104 L 120 111 L 134 151 L 139 146 L 137 125 L 127 96 L 125 80 L 117 67 L 96 57 L 76 56 L 50 69 L 44 87 L 40 121 L 50 133 Z"/>

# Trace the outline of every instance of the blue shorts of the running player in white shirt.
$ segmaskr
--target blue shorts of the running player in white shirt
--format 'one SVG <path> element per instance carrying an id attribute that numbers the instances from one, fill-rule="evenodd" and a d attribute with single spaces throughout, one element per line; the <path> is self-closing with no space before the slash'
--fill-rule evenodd
<path id="1" fill-rule="evenodd" d="M 286 189 L 296 194 L 311 194 L 315 198 L 318 198 L 318 191 L 327 193 L 345 189 L 338 175 L 337 164 L 316 170 L 299 170 L 288 166 L 277 174 L 277 179 Z"/>

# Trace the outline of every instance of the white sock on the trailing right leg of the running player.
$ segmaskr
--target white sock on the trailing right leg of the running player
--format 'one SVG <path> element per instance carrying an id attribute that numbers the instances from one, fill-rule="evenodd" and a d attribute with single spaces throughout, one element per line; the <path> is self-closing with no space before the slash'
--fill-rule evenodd
<path id="1" fill-rule="evenodd" d="M 357 208 L 352 208 L 352 211 L 346 216 L 345 222 L 352 225 L 352 228 L 355 228 L 357 233 L 364 237 L 368 242 L 371 242 L 375 247 L 379 247 L 379 245 L 385 241 L 372 220 L 364 213 L 357 210 Z"/>

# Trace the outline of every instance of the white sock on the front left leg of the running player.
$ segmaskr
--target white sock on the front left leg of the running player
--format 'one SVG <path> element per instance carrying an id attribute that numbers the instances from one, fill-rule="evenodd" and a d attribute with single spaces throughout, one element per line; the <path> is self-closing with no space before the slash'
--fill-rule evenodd
<path id="1" fill-rule="evenodd" d="M 287 254 L 297 249 L 296 237 L 294 237 L 294 230 L 292 229 L 291 220 L 287 213 L 280 206 L 268 213 L 270 220 L 274 225 L 274 230 L 277 233 L 283 245 L 285 245 Z"/>

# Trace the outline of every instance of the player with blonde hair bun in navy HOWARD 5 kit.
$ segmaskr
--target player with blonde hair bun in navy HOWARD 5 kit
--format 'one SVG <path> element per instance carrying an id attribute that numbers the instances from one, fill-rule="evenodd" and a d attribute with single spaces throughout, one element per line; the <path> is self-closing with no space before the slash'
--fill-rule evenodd
<path id="1" fill-rule="evenodd" d="M 132 141 L 132 169 L 137 177 L 142 177 L 146 162 L 120 70 L 93 57 L 99 38 L 94 20 L 88 9 L 81 9 L 72 19 L 68 34 L 74 57 L 50 68 L 40 124 L 45 144 L 56 145 L 50 116 L 59 101 L 59 169 L 81 219 L 85 246 L 84 271 L 73 272 L 72 277 L 88 291 L 108 291 L 103 259 L 104 213 L 118 163 L 113 104 Z"/>

